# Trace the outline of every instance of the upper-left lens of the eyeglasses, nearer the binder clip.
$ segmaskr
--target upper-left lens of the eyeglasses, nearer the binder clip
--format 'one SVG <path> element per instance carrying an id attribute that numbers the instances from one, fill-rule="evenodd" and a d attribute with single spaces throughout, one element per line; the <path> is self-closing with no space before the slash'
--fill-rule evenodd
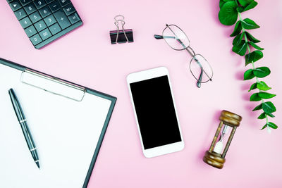
<path id="1" fill-rule="evenodd" d="M 176 25 L 168 25 L 163 31 L 163 37 L 168 46 L 176 50 L 182 50 L 190 45 L 185 33 Z"/>

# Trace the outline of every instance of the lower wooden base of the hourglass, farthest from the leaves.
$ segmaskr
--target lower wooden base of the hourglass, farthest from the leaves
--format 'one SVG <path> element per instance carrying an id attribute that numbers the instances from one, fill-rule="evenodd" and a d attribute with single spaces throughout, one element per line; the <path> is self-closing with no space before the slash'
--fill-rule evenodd
<path id="1" fill-rule="evenodd" d="M 214 151 L 212 151 L 212 153 L 206 151 L 206 153 L 204 153 L 203 161 L 208 165 L 212 165 L 215 168 L 221 169 L 223 168 L 223 164 L 225 163 L 225 158 L 222 158 L 221 154 L 215 153 Z"/>

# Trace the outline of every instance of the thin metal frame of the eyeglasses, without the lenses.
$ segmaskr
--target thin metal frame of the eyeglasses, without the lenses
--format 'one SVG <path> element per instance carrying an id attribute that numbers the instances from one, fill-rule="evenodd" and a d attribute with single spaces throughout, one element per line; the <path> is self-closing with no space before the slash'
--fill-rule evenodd
<path id="1" fill-rule="evenodd" d="M 190 60 L 190 66 L 189 66 L 189 68 L 190 68 L 190 72 L 191 72 L 191 74 L 193 75 L 193 77 L 195 77 L 195 75 L 192 73 L 192 70 L 191 70 L 191 63 L 192 63 L 192 59 L 195 59 L 195 61 L 197 61 L 197 64 L 200 66 L 200 68 L 201 68 L 201 73 L 200 73 L 200 77 L 199 77 L 199 79 L 197 79 L 197 77 L 195 77 L 195 79 L 197 80 L 197 87 L 201 87 L 201 83 L 206 83 L 206 82 L 209 82 L 209 81 L 212 81 L 212 77 L 213 77 L 213 75 L 214 75 L 214 71 L 212 70 L 212 66 L 211 65 L 209 65 L 209 62 L 204 58 L 204 56 L 202 56 L 201 54 L 195 54 L 195 51 L 190 47 L 190 40 L 189 40 L 189 38 L 187 37 L 187 35 L 186 35 L 186 33 L 185 32 L 183 32 L 183 34 L 185 35 L 185 37 L 188 39 L 188 42 L 189 42 L 189 45 L 188 46 L 185 46 L 184 44 L 183 44 L 183 42 L 179 39 L 179 37 L 173 32 L 173 30 L 171 30 L 171 27 L 169 27 L 169 26 L 175 26 L 175 27 L 177 27 L 181 32 L 183 32 L 183 30 L 181 30 L 180 29 L 180 27 L 178 27 L 177 25 L 168 25 L 168 24 L 166 24 L 166 27 L 164 28 L 164 30 L 163 30 L 163 35 L 154 35 L 154 38 L 155 39 L 164 39 L 164 41 L 166 42 L 166 44 L 168 44 L 168 42 L 166 41 L 166 39 L 165 38 L 173 38 L 173 39 L 176 39 L 176 37 L 178 38 L 178 39 L 176 39 L 180 44 L 181 44 L 181 46 L 183 46 L 183 49 L 174 49 L 170 44 L 168 44 L 168 46 L 170 46 L 171 47 L 171 49 L 174 49 L 174 50 L 176 50 L 176 51 L 182 51 L 182 50 L 186 50 L 186 51 L 188 51 L 188 53 L 190 54 L 190 56 L 192 56 L 192 58 L 191 58 L 191 60 Z M 171 30 L 171 32 L 173 33 L 173 35 L 175 35 L 176 37 L 171 37 L 171 36 L 164 36 L 164 31 L 166 30 L 166 29 L 169 29 L 169 30 Z M 190 49 L 190 50 L 189 50 Z M 191 52 L 192 51 L 192 52 Z M 209 68 L 212 70 L 212 76 L 211 77 L 209 77 L 209 75 L 207 75 L 207 73 L 206 73 L 206 71 L 204 71 L 204 69 L 202 68 L 202 65 L 201 65 L 201 63 L 197 60 L 197 58 L 195 58 L 195 56 L 197 56 L 197 55 L 200 55 L 200 56 L 202 56 L 202 58 L 204 58 L 204 60 L 205 61 L 207 61 L 207 64 L 209 65 Z M 207 80 L 207 81 L 205 81 L 205 82 L 202 82 L 202 74 L 205 74 L 205 75 L 207 75 L 207 77 L 209 78 L 209 80 Z"/>

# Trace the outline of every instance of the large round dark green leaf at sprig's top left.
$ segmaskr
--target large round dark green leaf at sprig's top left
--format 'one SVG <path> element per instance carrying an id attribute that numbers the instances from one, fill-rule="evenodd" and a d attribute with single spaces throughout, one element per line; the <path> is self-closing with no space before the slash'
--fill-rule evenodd
<path id="1" fill-rule="evenodd" d="M 219 21 L 223 25 L 233 25 L 238 19 L 238 12 L 236 10 L 237 4 L 235 1 L 228 1 L 219 11 Z"/>

